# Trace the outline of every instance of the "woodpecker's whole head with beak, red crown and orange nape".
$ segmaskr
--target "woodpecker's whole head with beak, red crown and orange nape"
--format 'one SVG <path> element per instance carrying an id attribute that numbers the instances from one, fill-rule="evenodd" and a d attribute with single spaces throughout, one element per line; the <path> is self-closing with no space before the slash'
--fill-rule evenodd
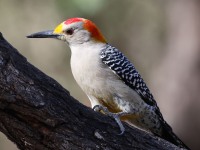
<path id="1" fill-rule="evenodd" d="M 71 18 L 59 24 L 54 30 L 33 33 L 28 38 L 55 38 L 69 45 L 83 44 L 88 41 L 106 43 L 96 25 L 84 18 Z"/>

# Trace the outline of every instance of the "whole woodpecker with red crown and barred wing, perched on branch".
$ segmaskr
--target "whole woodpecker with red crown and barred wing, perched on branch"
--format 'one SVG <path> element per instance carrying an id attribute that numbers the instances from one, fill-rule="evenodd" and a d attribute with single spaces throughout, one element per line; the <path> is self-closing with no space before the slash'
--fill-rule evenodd
<path id="1" fill-rule="evenodd" d="M 71 49 L 71 70 L 92 108 L 117 121 L 122 134 L 124 120 L 181 148 L 188 147 L 163 119 L 157 103 L 135 69 L 117 48 L 108 44 L 97 26 L 84 18 L 71 18 L 54 30 L 33 33 L 28 38 L 55 38 Z"/>

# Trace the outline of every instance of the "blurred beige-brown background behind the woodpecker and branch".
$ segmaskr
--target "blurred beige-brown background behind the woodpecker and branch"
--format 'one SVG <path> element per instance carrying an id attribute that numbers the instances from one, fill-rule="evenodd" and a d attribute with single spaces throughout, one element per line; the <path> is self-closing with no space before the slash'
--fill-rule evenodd
<path id="1" fill-rule="evenodd" d="M 200 149 L 199 0 L 0 0 L 0 32 L 34 66 L 90 106 L 70 70 L 70 49 L 26 35 L 72 17 L 94 21 L 109 43 L 135 64 L 165 120 Z M 17 150 L 0 133 L 0 150 Z"/>

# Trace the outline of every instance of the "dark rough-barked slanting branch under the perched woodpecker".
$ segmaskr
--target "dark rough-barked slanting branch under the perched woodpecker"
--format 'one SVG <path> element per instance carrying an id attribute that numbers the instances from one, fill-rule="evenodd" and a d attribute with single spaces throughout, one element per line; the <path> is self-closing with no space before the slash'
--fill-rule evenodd
<path id="1" fill-rule="evenodd" d="M 179 149 L 109 117 L 70 96 L 27 62 L 0 34 L 0 131 L 19 149 Z"/>

